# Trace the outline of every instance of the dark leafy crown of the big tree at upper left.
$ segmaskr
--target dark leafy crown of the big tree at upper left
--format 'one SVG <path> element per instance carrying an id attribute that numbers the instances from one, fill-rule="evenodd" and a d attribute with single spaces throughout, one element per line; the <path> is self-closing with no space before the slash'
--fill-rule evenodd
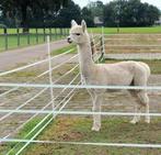
<path id="1" fill-rule="evenodd" d="M 27 27 L 33 20 L 44 23 L 46 18 L 54 16 L 61 4 L 66 5 L 67 2 L 68 0 L 0 0 L 0 10 L 8 21 L 20 21 L 21 26 Z"/>

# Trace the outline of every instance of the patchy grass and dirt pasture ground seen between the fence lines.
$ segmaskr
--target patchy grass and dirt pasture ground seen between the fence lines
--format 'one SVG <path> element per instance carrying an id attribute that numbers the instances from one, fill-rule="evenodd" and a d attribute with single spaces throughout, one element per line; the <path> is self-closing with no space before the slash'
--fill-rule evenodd
<path id="1" fill-rule="evenodd" d="M 127 29 L 128 30 L 128 29 Z M 96 31 L 95 31 L 96 32 Z M 96 32 L 97 33 L 97 32 Z M 145 33 L 145 32 L 143 32 Z M 152 32 L 153 33 L 153 32 Z M 106 45 L 106 54 L 108 53 L 160 53 L 161 49 L 157 48 L 157 51 L 151 51 L 153 48 L 140 48 L 140 46 L 136 49 L 131 45 L 159 45 L 160 36 L 152 34 L 149 37 L 145 37 L 145 35 L 130 35 L 128 34 L 127 40 L 125 38 L 125 34 L 117 35 L 107 35 L 105 38 Z M 112 40 L 108 40 L 112 38 Z M 113 40 L 114 38 L 114 40 Z M 116 40 L 120 38 L 120 40 Z M 110 45 L 128 45 L 128 48 L 117 46 L 113 49 L 113 46 Z M 62 54 L 66 51 L 72 48 L 73 46 L 69 46 L 57 52 L 53 53 L 53 56 L 56 54 Z M 99 47 L 97 47 L 99 48 Z M 76 49 L 72 53 L 68 54 L 68 56 L 73 56 L 76 54 Z M 138 59 L 140 60 L 140 59 Z M 60 62 L 65 62 L 65 59 L 60 59 Z M 104 63 L 115 63 L 117 59 L 106 59 Z M 161 86 L 161 59 L 158 60 L 143 60 L 147 63 L 152 71 L 152 76 L 150 77 L 149 85 L 150 86 Z M 54 62 L 53 62 L 54 63 Z M 55 65 L 54 65 L 55 66 Z M 53 79 L 58 79 L 71 68 L 76 66 L 76 59 L 66 63 L 60 68 L 53 70 Z M 14 73 L 0 78 L 0 81 L 8 82 L 25 82 L 34 79 L 36 76 L 42 74 L 44 70 L 48 68 L 48 64 L 41 65 L 38 67 L 34 67 L 32 69 L 22 70 L 20 73 Z M 70 73 L 66 78 L 61 79 L 59 84 L 69 84 L 70 80 L 77 76 L 79 73 L 79 68 L 76 68 L 72 73 Z M 78 84 L 80 77 L 78 77 L 73 84 Z M 48 76 L 41 77 L 38 80 L 34 80 L 36 84 L 47 84 Z M 1 93 L 5 92 L 9 88 L 1 88 Z M 60 93 L 61 89 L 54 89 L 55 96 Z M 39 90 L 36 88 L 20 88 L 16 91 L 13 91 L 7 95 L 4 98 L 1 98 L 1 109 L 10 108 L 16 109 L 16 107 L 21 106 L 25 100 L 32 98 L 33 95 L 38 93 Z M 66 98 L 66 96 L 70 92 L 68 89 L 64 92 L 55 102 L 59 104 L 61 100 Z M 161 91 L 159 90 L 149 90 L 150 97 L 150 112 L 161 112 Z M 19 95 L 19 96 L 18 96 Z M 21 98 L 20 98 L 21 96 Z M 23 97 L 23 98 L 22 98 Z M 41 97 L 35 99 L 28 104 L 25 104 L 22 110 L 41 110 L 46 103 L 49 101 L 49 91 L 45 91 Z M 70 99 L 67 97 L 65 101 Z M 2 104 L 7 102 L 5 104 Z M 126 91 L 120 92 L 111 92 L 105 93 L 104 102 L 103 102 L 103 111 L 105 112 L 133 112 L 134 109 L 134 100 Z M 68 104 L 65 107 L 65 110 L 70 111 L 91 111 L 91 98 L 88 95 L 85 89 L 78 89 L 73 97 L 69 100 Z M 12 106 L 11 106 L 12 104 Z M 50 110 L 51 106 L 47 107 L 47 110 Z M 1 115 L 3 117 L 3 115 Z M 3 125 L 5 132 L 2 133 L 4 136 L 8 133 L 18 129 L 22 123 L 25 123 L 26 120 L 32 118 L 33 114 L 16 114 L 12 113 L 9 119 L 4 119 L 1 121 L 1 125 Z M 32 139 L 39 129 L 42 129 L 45 123 L 51 118 L 49 115 L 38 128 L 36 128 L 31 134 L 28 134 L 33 128 L 35 128 L 45 117 L 45 114 L 38 114 L 31 121 L 28 121 L 23 128 L 16 131 L 12 137 L 15 139 Z M 16 118 L 16 119 L 15 119 Z M 92 132 L 92 117 L 91 115 L 58 115 L 55 120 L 53 120 L 47 128 L 41 132 L 36 140 L 41 141 L 53 141 L 53 142 L 91 142 L 91 143 L 139 143 L 139 144 L 161 144 L 161 125 L 160 118 L 152 118 L 150 124 L 146 124 L 143 121 L 134 125 L 129 123 L 131 117 L 103 117 L 102 120 L 102 130 L 100 132 Z M 26 136 L 27 135 L 27 136 Z M 16 144 L 16 145 L 15 145 Z M 10 155 L 18 153 L 26 143 L 4 143 L 0 145 L 0 152 L 2 154 L 10 152 Z M 73 144 L 37 144 L 31 143 L 24 152 L 23 155 L 160 155 L 160 148 L 136 148 L 136 147 L 112 147 L 112 146 L 96 146 L 96 145 L 73 145 Z"/>

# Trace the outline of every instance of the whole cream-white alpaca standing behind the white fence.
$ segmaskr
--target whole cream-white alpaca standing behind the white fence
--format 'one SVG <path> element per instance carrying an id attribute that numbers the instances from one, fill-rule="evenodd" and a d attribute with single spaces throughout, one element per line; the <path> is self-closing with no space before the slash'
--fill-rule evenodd
<path id="1" fill-rule="evenodd" d="M 87 31 L 87 24 L 82 21 L 78 25 L 71 22 L 69 43 L 77 43 L 79 52 L 80 71 L 82 79 L 88 85 L 108 85 L 108 86 L 147 86 L 150 76 L 150 68 L 141 62 L 120 62 L 115 64 L 94 64 L 92 59 L 90 36 Z M 101 112 L 101 103 L 105 90 L 89 89 L 93 101 L 93 111 Z M 140 112 L 146 107 L 146 113 L 149 113 L 149 98 L 146 90 L 130 90 L 133 97 L 137 99 L 135 112 Z M 140 115 L 135 115 L 130 121 L 137 123 Z M 146 115 L 147 123 L 150 123 L 150 117 Z M 93 131 L 101 129 L 101 114 L 93 115 Z"/>

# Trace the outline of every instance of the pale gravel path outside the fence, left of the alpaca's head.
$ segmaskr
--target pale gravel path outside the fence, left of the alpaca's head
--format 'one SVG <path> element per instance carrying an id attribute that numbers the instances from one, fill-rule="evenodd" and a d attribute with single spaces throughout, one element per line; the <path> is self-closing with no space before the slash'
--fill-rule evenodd
<path id="1" fill-rule="evenodd" d="M 66 40 L 56 41 L 50 43 L 50 49 L 55 51 L 65 47 L 67 45 L 68 43 Z M 30 64 L 35 59 L 43 59 L 46 57 L 46 54 L 47 54 L 46 44 L 0 53 L 0 71 L 9 70 L 11 67 L 14 67 L 22 63 Z"/>

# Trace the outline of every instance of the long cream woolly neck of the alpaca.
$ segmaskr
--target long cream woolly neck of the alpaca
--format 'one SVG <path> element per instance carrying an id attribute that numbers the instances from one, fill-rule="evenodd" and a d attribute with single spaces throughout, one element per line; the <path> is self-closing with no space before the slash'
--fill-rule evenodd
<path id="1" fill-rule="evenodd" d="M 92 59 L 91 45 L 83 43 L 78 45 L 80 71 L 83 77 L 88 78 L 94 70 L 94 62 Z"/>

